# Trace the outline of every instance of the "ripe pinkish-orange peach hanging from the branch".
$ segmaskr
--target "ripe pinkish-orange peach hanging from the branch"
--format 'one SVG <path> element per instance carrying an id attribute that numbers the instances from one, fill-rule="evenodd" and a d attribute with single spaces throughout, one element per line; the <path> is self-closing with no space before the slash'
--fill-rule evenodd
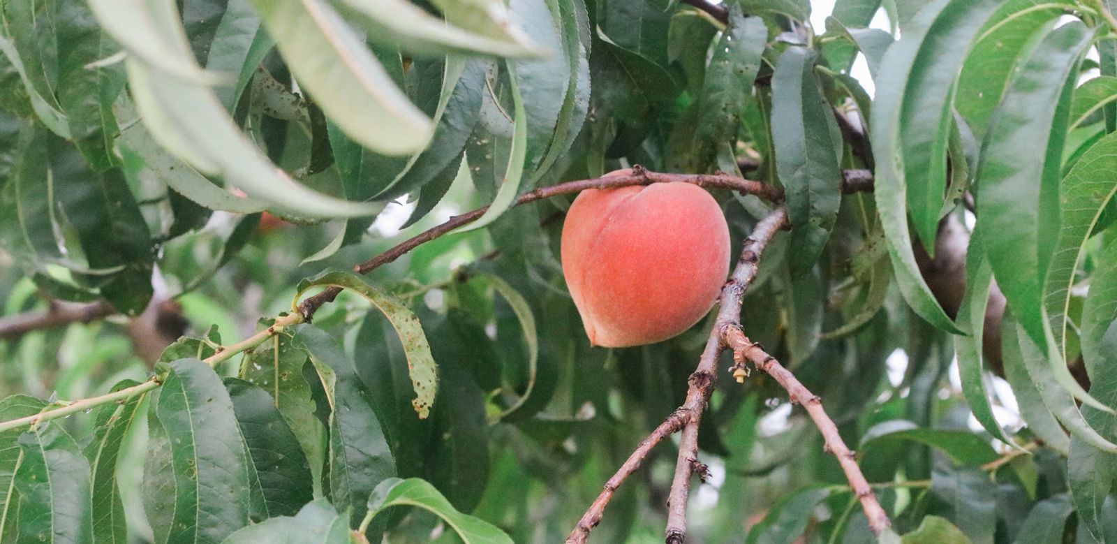
<path id="1" fill-rule="evenodd" d="M 729 273 L 729 228 L 689 183 L 590 189 L 566 213 L 562 267 L 591 344 L 651 344 L 709 312 Z"/>

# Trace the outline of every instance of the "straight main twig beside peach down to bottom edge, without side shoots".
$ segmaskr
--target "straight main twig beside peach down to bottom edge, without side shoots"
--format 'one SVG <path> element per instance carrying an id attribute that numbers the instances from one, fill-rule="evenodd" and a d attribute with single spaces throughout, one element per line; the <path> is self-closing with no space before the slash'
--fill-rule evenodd
<path id="1" fill-rule="evenodd" d="M 690 494 L 690 477 L 695 469 L 701 467 L 698 462 L 698 426 L 701 423 L 701 412 L 709 400 L 710 391 L 717 382 L 717 360 L 725 349 L 726 331 L 737 330 L 741 325 L 741 303 L 745 290 L 756 277 L 761 254 L 772 241 L 772 237 L 787 225 L 787 211 L 779 208 L 756 223 L 753 232 L 745 239 L 741 248 L 741 259 L 722 288 L 720 308 L 717 321 L 706 341 L 706 350 L 698 361 L 698 369 L 690 375 L 690 388 L 687 391 L 687 402 L 697 403 L 700 409 L 682 428 L 679 441 L 679 457 L 675 465 L 675 479 L 667 503 L 667 544 L 682 544 L 687 537 L 687 499 Z"/>

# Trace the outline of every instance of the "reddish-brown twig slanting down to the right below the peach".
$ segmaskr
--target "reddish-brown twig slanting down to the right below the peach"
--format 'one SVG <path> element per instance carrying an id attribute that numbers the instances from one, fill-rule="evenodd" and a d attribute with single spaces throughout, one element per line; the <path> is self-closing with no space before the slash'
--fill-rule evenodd
<path id="1" fill-rule="evenodd" d="M 841 465 L 842 471 L 846 473 L 846 479 L 849 480 L 850 488 L 857 495 L 858 500 L 861 502 L 865 516 L 869 519 L 869 529 L 872 531 L 872 534 L 879 536 L 880 533 L 891 525 L 891 522 L 888 521 L 888 514 L 880 507 L 880 503 L 877 502 L 877 496 L 872 493 L 872 487 L 869 486 L 868 480 L 865 479 L 865 475 L 861 474 L 861 468 L 857 465 L 857 457 L 846 446 L 846 442 L 841 439 L 841 435 L 838 433 L 838 426 L 834 424 L 833 420 L 827 416 L 825 410 L 822 408 L 822 399 L 808 390 L 791 371 L 783 368 L 760 344 L 748 340 L 739 326 L 731 326 L 725 331 L 725 342 L 733 350 L 734 360 L 737 361 L 734 375 L 737 376 L 738 381 L 743 379 L 738 374 L 742 370 L 741 364 L 744 360 L 752 361 L 758 370 L 774 378 L 787 391 L 787 397 L 793 404 L 802 404 L 806 409 L 808 416 L 811 417 L 814 426 L 822 433 L 823 449 L 838 458 L 838 464 Z"/>

